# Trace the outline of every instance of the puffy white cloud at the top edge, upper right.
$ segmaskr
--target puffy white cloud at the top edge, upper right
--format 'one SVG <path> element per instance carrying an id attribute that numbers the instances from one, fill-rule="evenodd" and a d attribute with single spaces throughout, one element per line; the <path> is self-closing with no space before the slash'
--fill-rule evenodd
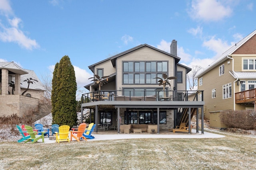
<path id="1" fill-rule="evenodd" d="M 232 14 L 232 9 L 228 5 L 224 6 L 223 3 L 217 0 L 193 0 L 190 17 L 204 21 L 222 20 Z"/>

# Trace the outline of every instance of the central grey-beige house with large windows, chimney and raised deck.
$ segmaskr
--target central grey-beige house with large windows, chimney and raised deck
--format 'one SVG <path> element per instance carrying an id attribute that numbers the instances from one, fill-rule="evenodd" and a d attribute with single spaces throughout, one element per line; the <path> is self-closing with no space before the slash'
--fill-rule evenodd
<path id="1" fill-rule="evenodd" d="M 84 86 L 90 92 L 83 94 L 82 108 L 94 110 L 96 131 L 112 126 L 119 133 L 123 132 L 121 125 L 132 130 L 155 125 L 159 133 L 181 122 L 190 127 L 192 115 L 198 114 L 204 102 L 188 101 L 186 74 L 191 68 L 179 61 L 177 41 L 173 40 L 170 53 L 144 44 L 88 66 L 100 77 L 109 76 L 100 90 L 97 81 Z M 158 85 L 163 73 L 177 77 L 164 90 Z"/>

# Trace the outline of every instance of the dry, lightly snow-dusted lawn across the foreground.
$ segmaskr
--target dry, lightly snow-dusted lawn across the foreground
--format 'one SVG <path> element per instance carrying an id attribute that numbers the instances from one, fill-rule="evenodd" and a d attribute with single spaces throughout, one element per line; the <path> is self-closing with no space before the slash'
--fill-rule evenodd
<path id="1" fill-rule="evenodd" d="M 223 134 L 222 134 L 223 135 Z M 87 170 L 253 170 L 256 138 L 122 139 L 70 143 L 0 143 L 0 167 Z"/>

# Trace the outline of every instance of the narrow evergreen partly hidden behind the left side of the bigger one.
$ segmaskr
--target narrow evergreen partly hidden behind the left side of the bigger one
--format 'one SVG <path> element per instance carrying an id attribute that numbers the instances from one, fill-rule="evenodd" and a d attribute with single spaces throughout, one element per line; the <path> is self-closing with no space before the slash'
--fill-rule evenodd
<path id="1" fill-rule="evenodd" d="M 52 76 L 52 96 L 51 96 L 51 99 L 52 99 L 52 123 L 54 124 L 54 120 L 55 120 L 55 113 L 56 113 L 56 101 L 57 101 L 57 95 L 58 95 L 58 91 L 57 91 L 57 87 L 59 86 L 59 82 L 58 81 L 58 77 L 57 77 L 57 71 L 58 71 L 58 65 L 59 63 L 56 63 L 55 64 L 55 67 L 54 67 L 54 71 L 53 71 L 53 76 Z"/>

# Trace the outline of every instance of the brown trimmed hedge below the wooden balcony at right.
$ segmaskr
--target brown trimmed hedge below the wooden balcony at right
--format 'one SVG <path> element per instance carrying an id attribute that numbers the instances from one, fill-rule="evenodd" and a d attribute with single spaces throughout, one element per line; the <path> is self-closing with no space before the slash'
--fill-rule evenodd
<path id="1" fill-rule="evenodd" d="M 220 120 L 227 127 L 254 129 L 256 121 L 255 110 L 225 111 L 220 114 Z"/>

